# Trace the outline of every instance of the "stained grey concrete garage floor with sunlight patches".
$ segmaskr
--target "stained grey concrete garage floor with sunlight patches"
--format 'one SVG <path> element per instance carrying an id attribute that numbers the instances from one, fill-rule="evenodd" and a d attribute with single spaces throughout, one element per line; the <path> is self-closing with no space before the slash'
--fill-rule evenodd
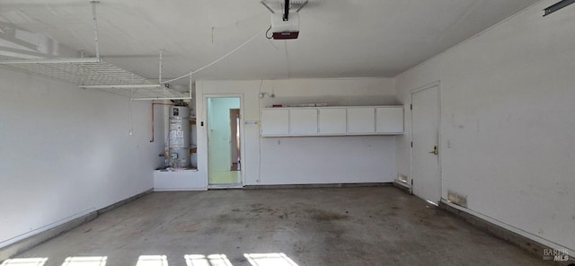
<path id="1" fill-rule="evenodd" d="M 155 192 L 16 258 L 101 265 L 63 263 L 78 256 L 108 266 L 549 265 L 394 187 Z"/>

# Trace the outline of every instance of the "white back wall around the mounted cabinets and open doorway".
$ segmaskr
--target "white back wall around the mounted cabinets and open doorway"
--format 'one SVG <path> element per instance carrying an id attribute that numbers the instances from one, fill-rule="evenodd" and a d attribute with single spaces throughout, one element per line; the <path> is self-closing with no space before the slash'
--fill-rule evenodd
<path id="1" fill-rule="evenodd" d="M 397 104 L 391 79 L 292 79 L 198 81 L 198 121 L 205 120 L 204 95 L 243 94 L 245 184 L 393 182 L 395 139 L 376 137 L 260 137 L 260 109 L 273 103 L 330 105 Z M 275 98 L 259 98 L 274 93 Z M 207 168 L 205 127 L 198 130 L 199 172 Z M 206 177 L 207 178 L 207 177 Z"/>

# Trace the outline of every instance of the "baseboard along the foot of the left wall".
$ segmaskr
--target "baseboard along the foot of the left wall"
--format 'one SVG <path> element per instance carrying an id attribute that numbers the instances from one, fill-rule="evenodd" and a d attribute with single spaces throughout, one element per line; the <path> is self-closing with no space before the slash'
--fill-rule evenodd
<path id="1" fill-rule="evenodd" d="M 49 241 L 50 239 L 57 237 L 58 235 L 62 235 L 72 229 L 74 229 L 77 226 L 82 226 L 87 222 L 92 221 L 93 219 L 95 219 L 96 217 L 101 216 L 103 213 L 106 213 L 108 211 L 111 211 L 114 208 L 118 208 L 134 199 L 139 199 L 143 196 L 146 196 L 147 194 L 151 193 L 152 190 L 149 191 L 144 191 L 142 193 L 139 193 L 135 196 L 129 197 L 128 199 L 122 199 L 114 204 L 111 204 L 107 207 L 104 208 L 100 208 L 98 210 L 94 210 L 82 217 L 77 217 L 73 220 L 67 221 L 64 224 L 58 225 L 58 226 L 54 226 L 52 228 L 49 228 L 48 230 L 42 231 L 36 235 L 31 235 L 30 237 L 24 238 L 14 244 L 9 244 L 7 246 L 4 246 L 3 248 L 0 248 L 0 262 L 9 259 L 19 253 L 23 253 L 29 249 L 31 249 L 32 247 L 42 244 L 46 241 Z"/>

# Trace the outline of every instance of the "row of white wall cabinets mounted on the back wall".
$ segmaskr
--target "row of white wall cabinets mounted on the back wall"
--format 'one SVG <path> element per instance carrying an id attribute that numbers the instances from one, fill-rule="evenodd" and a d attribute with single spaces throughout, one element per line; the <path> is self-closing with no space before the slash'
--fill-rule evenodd
<path id="1" fill-rule="evenodd" d="M 261 137 L 403 134 L 403 106 L 261 109 Z"/>

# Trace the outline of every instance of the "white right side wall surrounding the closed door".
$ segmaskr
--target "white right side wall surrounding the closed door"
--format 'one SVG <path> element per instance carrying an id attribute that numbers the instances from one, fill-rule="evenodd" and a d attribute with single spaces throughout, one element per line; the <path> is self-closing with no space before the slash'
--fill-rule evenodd
<path id="1" fill-rule="evenodd" d="M 542 1 L 398 75 L 396 92 L 440 81 L 443 198 L 521 235 L 575 250 L 575 6 Z M 410 173 L 410 112 L 397 171 Z M 447 143 L 451 146 L 447 146 Z"/>

